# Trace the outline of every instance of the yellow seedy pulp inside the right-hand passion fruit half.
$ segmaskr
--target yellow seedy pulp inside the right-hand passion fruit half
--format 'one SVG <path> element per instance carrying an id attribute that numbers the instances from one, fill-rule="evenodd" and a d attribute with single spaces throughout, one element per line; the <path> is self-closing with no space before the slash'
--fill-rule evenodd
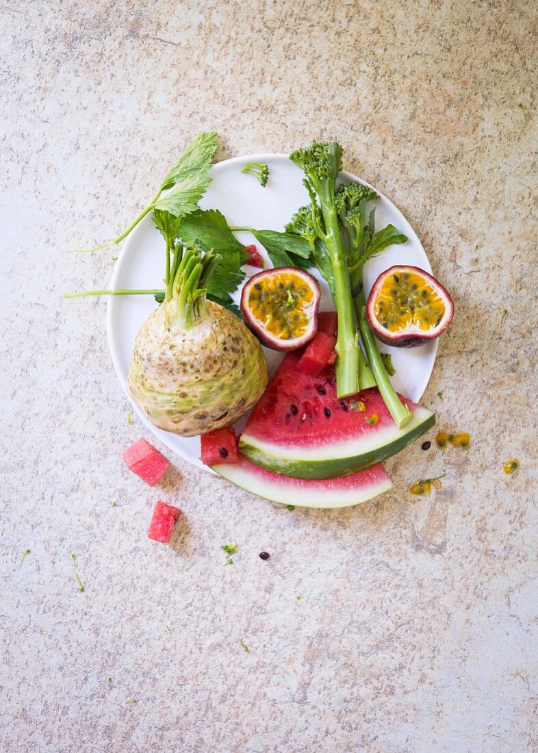
<path id="1" fill-rule="evenodd" d="M 445 315 L 445 302 L 424 277 L 415 273 L 394 274 L 381 285 L 374 314 L 378 322 L 391 332 L 405 330 L 411 325 L 427 331 L 439 325 Z"/>

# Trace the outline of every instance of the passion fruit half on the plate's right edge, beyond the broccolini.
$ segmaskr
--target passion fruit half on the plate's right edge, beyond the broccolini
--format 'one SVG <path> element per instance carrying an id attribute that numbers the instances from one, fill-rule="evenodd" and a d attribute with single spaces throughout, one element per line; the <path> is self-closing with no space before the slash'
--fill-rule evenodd
<path id="1" fill-rule="evenodd" d="M 381 343 L 412 348 L 434 340 L 454 316 L 454 301 L 435 277 L 418 267 L 391 267 L 375 280 L 366 319 Z"/>

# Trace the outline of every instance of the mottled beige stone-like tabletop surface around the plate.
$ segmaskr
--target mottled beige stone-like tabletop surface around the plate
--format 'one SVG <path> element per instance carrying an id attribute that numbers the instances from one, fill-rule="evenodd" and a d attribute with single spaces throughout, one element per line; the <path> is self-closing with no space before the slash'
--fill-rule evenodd
<path id="1" fill-rule="evenodd" d="M 536 751 L 536 3 L 6 0 L 0 20 L 0 749 Z M 129 473 L 150 435 L 105 300 L 61 298 L 112 253 L 66 249 L 121 229 L 208 128 L 220 157 L 336 137 L 403 209 L 456 302 L 424 401 L 467 453 L 411 447 L 393 492 L 342 512 L 179 459 L 160 488 Z M 172 547 L 146 538 L 157 498 L 184 513 Z"/>

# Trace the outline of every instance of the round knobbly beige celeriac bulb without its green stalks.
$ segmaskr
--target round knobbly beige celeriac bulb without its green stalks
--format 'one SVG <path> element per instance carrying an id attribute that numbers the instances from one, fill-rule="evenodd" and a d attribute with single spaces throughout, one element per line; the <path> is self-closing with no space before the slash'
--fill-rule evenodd
<path id="1" fill-rule="evenodd" d="M 161 304 L 138 331 L 127 392 L 154 425 L 182 437 L 233 424 L 266 388 L 260 343 L 212 301 L 207 316 L 189 329 L 166 316 L 166 306 Z"/>

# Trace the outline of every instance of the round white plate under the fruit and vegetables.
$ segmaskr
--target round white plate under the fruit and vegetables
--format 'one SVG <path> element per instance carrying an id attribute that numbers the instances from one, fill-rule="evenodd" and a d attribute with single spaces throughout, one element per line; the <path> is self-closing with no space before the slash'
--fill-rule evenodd
<path id="1" fill-rule="evenodd" d="M 269 165 L 269 182 L 265 188 L 251 175 L 242 175 L 242 167 L 249 162 Z M 213 181 L 200 206 L 202 209 L 220 209 L 230 225 L 256 227 L 260 230 L 284 230 L 284 224 L 299 206 L 308 203 L 309 197 L 302 185 L 302 171 L 290 162 L 287 154 L 249 154 L 235 157 L 211 167 Z M 358 180 L 349 172 L 342 172 L 343 181 Z M 364 181 L 363 181 L 364 182 Z M 378 275 L 393 264 L 412 264 L 431 272 L 424 248 L 409 222 L 399 209 L 381 195 L 376 203 L 375 225 L 378 229 L 392 223 L 409 237 L 403 245 L 387 248 L 377 258 L 366 264 L 364 279 L 366 293 Z M 251 233 L 237 233 L 245 244 L 256 242 Z M 260 248 L 264 254 L 264 249 Z M 111 288 L 162 288 L 164 274 L 163 239 L 151 221 L 150 215 L 135 227 L 120 251 L 111 280 Z M 269 264 L 270 266 L 270 264 Z M 251 269 L 251 268 L 249 268 Z M 255 271 L 255 270 L 251 270 Z M 315 275 L 323 291 L 321 309 L 334 309 L 327 284 Z M 236 294 L 239 301 L 239 291 Z M 112 360 L 121 386 L 125 389 L 129 359 L 138 329 L 157 306 L 152 296 L 109 296 L 107 307 L 108 343 Z M 419 348 L 400 349 L 381 346 L 381 352 L 390 352 L 396 368 L 392 383 L 398 392 L 418 401 L 421 398 L 433 370 L 437 341 Z M 269 370 L 281 359 L 281 355 L 264 349 Z M 129 398 L 130 399 L 130 398 Z M 203 468 L 199 459 L 199 438 L 184 439 L 168 431 L 161 431 L 151 424 L 144 413 L 133 404 L 141 421 L 153 434 L 188 462 Z M 212 471 L 211 471 L 212 472 Z"/>

